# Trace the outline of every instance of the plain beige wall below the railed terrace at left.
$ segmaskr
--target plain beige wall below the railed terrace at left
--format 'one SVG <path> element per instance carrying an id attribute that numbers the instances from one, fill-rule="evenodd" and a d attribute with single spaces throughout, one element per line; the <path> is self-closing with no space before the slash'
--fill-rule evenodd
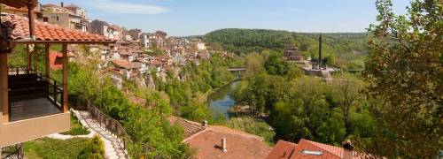
<path id="1" fill-rule="evenodd" d="M 66 132 L 70 128 L 69 112 L 6 123 L 0 125 L 0 148 Z"/>

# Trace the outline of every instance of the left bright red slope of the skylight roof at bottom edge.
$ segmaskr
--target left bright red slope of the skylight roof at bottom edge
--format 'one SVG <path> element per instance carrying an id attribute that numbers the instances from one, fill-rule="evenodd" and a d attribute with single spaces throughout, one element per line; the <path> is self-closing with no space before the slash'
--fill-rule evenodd
<path id="1" fill-rule="evenodd" d="M 283 159 L 283 158 L 295 158 L 295 148 L 297 144 L 278 140 L 276 147 L 272 149 L 271 153 L 266 157 L 267 159 Z"/>

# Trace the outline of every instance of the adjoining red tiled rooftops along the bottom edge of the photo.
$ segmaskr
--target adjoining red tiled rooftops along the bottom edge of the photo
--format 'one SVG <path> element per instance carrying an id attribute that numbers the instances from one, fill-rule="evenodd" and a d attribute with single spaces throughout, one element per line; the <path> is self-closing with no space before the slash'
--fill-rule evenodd
<path id="1" fill-rule="evenodd" d="M 197 158 L 267 158 L 267 159 L 354 159 L 364 158 L 353 151 L 350 142 L 343 148 L 299 140 L 299 144 L 279 140 L 274 148 L 250 133 L 240 132 L 221 125 L 199 124 L 180 117 L 168 117 L 173 125 L 184 129 L 184 143 L 197 150 Z M 367 156 L 367 155 L 366 155 Z"/>

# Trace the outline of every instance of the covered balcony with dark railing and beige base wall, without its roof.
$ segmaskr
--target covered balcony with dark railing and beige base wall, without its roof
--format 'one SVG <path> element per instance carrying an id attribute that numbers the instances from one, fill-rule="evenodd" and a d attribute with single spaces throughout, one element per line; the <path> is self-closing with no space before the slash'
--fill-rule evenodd
<path id="1" fill-rule="evenodd" d="M 69 130 L 63 87 L 26 67 L 8 66 L 8 115 L 0 125 L 0 148 Z"/>

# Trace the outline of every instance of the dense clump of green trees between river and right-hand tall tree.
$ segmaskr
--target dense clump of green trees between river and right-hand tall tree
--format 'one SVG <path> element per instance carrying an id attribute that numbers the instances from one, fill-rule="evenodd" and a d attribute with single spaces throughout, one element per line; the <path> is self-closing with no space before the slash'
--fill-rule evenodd
<path id="1" fill-rule="evenodd" d="M 304 75 L 280 55 L 247 55 L 247 71 L 234 94 L 237 104 L 250 106 L 251 117 L 266 118 L 275 129 L 274 141 L 309 139 L 339 146 L 354 135 L 370 139 L 375 127 L 361 94 L 365 82 L 339 75 L 327 83 Z"/>

